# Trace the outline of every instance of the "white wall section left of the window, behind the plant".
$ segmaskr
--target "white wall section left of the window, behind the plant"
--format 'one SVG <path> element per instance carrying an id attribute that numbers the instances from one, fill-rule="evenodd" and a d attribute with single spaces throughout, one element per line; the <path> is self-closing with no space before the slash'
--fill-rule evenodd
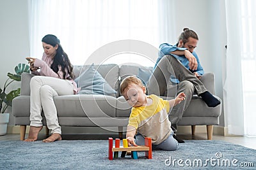
<path id="1" fill-rule="evenodd" d="M 0 24 L 0 87 L 3 89 L 7 73 L 15 73 L 14 67 L 26 63 L 24 58 L 29 56 L 28 0 L 0 0 Z M 18 85 L 13 83 L 10 89 Z"/>

